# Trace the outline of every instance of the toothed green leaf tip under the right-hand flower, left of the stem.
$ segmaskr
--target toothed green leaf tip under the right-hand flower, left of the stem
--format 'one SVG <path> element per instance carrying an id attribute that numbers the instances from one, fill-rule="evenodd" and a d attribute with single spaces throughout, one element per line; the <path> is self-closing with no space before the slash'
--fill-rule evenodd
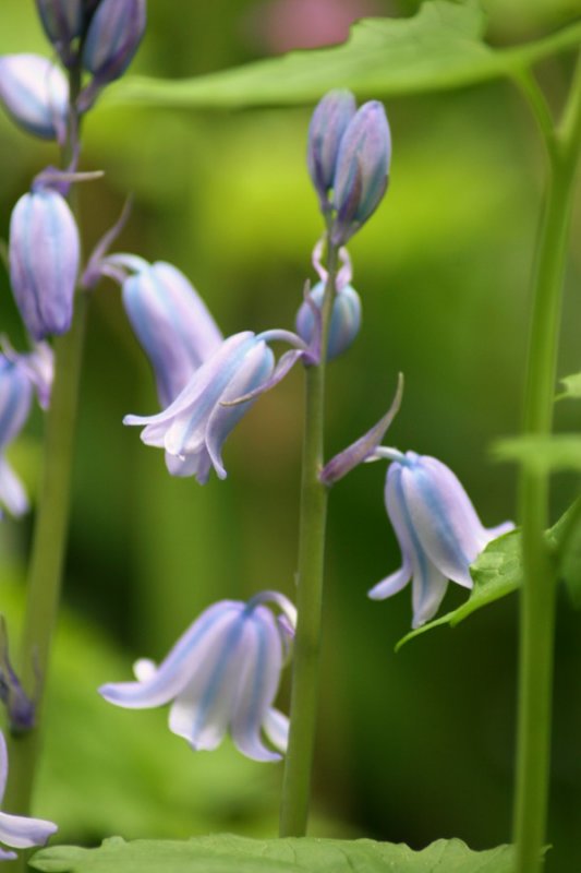
<path id="1" fill-rule="evenodd" d="M 420 636 L 420 634 L 424 634 L 433 627 L 439 627 L 440 624 L 449 624 L 453 627 L 477 609 L 482 609 L 482 607 L 506 597 L 507 594 L 516 591 L 522 579 L 520 552 L 520 530 L 511 530 L 510 534 L 505 534 L 489 542 L 470 567 L 470 574 L 474 579 L 474 588 L 468 600 L 459 606 L 458 609 L 447 612 L 445 615 L 440 615 L 438 619 L 434 619 L 434 621 L 429 621 L 415 631 L 406 634 L 397 644 L 396 651 L 415 636 Z"/>

